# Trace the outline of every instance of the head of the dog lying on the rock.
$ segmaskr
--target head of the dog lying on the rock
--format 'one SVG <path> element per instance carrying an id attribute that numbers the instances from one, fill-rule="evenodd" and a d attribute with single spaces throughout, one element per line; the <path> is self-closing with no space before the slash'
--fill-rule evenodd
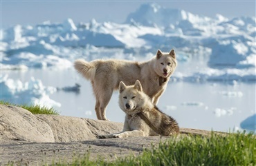
<path id="1" fill-rule="evenodd" d="M 143 87 L 138 80 L 130 86 L 121 81 L 119 93 L 119 106 L 127 114 L 140 112 L 141 107 L 149 101 L 149 97 L 143 92 Z"/>

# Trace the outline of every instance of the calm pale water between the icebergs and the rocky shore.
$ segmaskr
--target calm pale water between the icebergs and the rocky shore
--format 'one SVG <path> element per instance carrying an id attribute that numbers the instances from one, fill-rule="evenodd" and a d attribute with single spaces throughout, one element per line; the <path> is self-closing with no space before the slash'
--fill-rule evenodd
<path id="1" fill-rule="evenodd" d="M 53 87 L 82 85 L 80 93 L 56 92 L 50 98 L 62 104 L 62 115 L 96 119 L 95 98 L 91 83 L 75 70 L 2 71 L 11 79 L 28 81 L 31 76 L 43 85 Z M 255 83 L 187 83 L 170 82 L 161 96 L 158 107 L 173 116 L 181 127 L 233 131 L 241 121 L 255 114 Z M 125 114 L 118 106 L 118 92 L 114 92 L 107 107 L 110 121 L 123 122 Z"/>

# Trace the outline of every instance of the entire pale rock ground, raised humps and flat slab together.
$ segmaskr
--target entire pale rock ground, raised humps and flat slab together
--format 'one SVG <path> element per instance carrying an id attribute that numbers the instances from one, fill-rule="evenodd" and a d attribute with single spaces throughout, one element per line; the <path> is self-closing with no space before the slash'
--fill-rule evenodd
<path id="1" fill-rule="evenodd" d="M 0 165 L 52 165 L 71 163 L 90 152 L 90 159 L 105 160 L 138 155 L 173 137 L 101 139 L 98 135 L 122 131 L 122 123 L 71 116 L 31 114 L 11 105 L 0 105 Z M 209 135 L 209 131 L 181 128 L 181 136 Z M 179 138 L 178 137 L 178 138 Z"/>

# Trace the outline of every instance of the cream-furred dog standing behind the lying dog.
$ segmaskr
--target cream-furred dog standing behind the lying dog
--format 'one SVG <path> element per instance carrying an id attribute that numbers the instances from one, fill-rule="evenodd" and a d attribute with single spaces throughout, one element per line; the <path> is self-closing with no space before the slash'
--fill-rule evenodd
<path id="1" fill-rule="evenodd" d="M 74 63 L 77 72 L 91 81 L 96 98 L 95 112 L 100 120 L 107 120 L 105 110 L 113 90 L 118 89 L 120 81 L 126 85 L 132 85 L 139 80 L 144 87 L 144 92 L 156 105 L 176 65 L 174 50 L 170 53 L 158 50 L 153 59 L 142 63 L 113 59 L 91 62 L 77 59 Z"/>

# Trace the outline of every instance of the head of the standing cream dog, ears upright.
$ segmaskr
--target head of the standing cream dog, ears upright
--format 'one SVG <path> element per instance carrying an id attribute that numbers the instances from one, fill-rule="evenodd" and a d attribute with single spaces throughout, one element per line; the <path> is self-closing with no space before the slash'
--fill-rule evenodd
<path id="1" fill-rule="evenodd" d="M 156 52 L 154 70 L 156 74 L 158 74 L 158 76 L 162 76 L 163 78 L 172 76 L 174 70 L 176 69 L 176 66 L 176 54 L 173 49 L 169 53 L 161 52 L 161 50 L 158 50 Z"/>

